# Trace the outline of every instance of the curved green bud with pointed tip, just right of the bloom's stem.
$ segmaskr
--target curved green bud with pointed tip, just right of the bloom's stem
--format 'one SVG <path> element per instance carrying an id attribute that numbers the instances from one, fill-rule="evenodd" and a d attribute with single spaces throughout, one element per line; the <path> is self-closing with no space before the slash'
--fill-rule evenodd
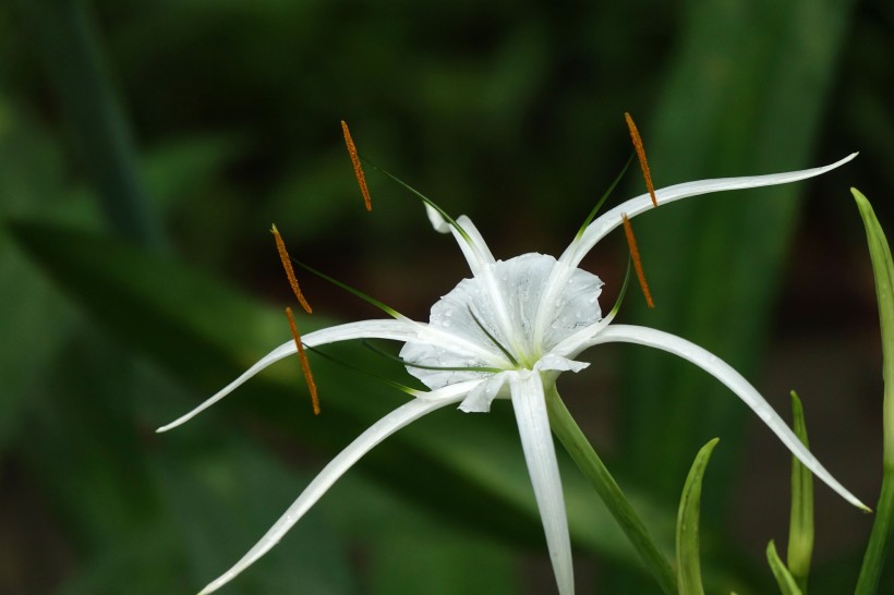
<path id="1" fill-rule="evenodd" d="M 720 438 L 714 438 L 699 450 L 682 487 L 677 512 L 677 585 L 680 595 L 704 595 L 699 559 L 701 484 L 711 452 L 718 441 Z"/>

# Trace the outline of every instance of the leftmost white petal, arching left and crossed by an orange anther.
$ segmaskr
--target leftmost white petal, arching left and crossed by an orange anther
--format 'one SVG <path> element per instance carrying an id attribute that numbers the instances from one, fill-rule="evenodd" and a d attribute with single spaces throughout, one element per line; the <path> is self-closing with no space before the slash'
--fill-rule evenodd
<path id="1" fill-rule="evenodd" d="M 302 342 L 309 348 L 314 348 L 327 343 L 350 341 L 352 339 L 394 339 L 396 341 L 409 341 L 410 339 L 414 339 L 418 332 L 418 323 L 413 323 L 411 320 L 361 320 L 359 323 L 347 323 L 345 325 L 336 325 L 334 327 L 309 332 L 302 337 Z M 168 432 L 169 429 L 189 422 L 198 413 L 205 411 L 216 402 L 220 401 L 224 397 L 239 388 L 249 378 L 259 373 L 262 369 L 282 360 L 283 357 L 294 354 L 297 351 L 298 348 L 295 347 L 293 340 L 282 343 L 267 355 L 258 360 L 252 367 L 243 372 L 235 380 L 205 400 L 197 408 L 193 409 L 185 415 L 181 415 L 173 422 L 159 427 L 156 432 Z"/>

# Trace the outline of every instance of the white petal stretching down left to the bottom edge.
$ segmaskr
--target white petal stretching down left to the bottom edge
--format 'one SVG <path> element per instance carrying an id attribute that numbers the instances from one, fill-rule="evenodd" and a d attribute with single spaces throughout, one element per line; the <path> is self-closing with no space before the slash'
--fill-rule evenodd
<path id="1" fill-rule="evenodd" d="M 361 457 L 372 450 L 373 447 L 382 442 L 382 440 L 423 415 L 459 401 L 462 394 L 455 394 L 455 392 L 456 389 L 452 391 L 445 389 L 442 398 L 438 400 L 414 399 L 370 426 L 369 429 L 358 436 L 348 448 L 342 450 L 314 477 L 307 487 L 304 488 L 304 491 L 301 493 L 301 496 L 298 497 L 292 506 L 286 510 L 282 517 L 274 523 L 261 541 L 257 542 L 241 560 L 218 579 L 208 583 L 200 595 L 217 591 L 269 551 L 346 471 L 360 460 Z"/>

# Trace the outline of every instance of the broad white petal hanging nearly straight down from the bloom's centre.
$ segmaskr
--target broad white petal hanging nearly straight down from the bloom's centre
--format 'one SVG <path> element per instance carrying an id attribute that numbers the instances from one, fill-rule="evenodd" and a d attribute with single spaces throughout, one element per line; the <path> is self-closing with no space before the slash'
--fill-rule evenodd
<path id="1" fill-rule="evenodd" d="M 556 449 L 546 414 L 543 381 L 537 373 L 519 373 L 509 380 L 512 408 L 521 436 L 528 473 L 546 533 L 546 546 L 553 561 L 559 595 L 573 595 L 575 570 L 571 564 L 571 539 L 561 491 Z"/>

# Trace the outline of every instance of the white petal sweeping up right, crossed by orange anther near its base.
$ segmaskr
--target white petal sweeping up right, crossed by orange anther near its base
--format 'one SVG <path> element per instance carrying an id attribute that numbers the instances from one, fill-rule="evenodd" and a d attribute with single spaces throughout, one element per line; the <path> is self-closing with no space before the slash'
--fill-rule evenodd
<path id="1" fill-rule="evenodd" d="M 855 157 L 857 157 L 857 154 L 853 153 L 832 165 L 800 171 L 771 173 L 768 175 L 746 175 L 740 178 L 716 178 L 713 180 L 685 182 L 682 184 L 676 184 L 656 190 L 655 197 L 657 198 L 659 206 L 661 206 L 681 198 L 709 194 L 711 192 L 788 184 L 790 182 L 798 182 L 800 180 L 814 178 L 832 171 L 833 169 L 847 163 Z M 565 263 L 567 259 L 568 266 L 577 267 L 587 253 L 590 252 L 594 245 L 596 245 L 596 242 L 602 240 L 606 233 L 621 224 L 621 214 L 627 215 L 628 218 L 632 219 L 636 215 L 645 212 L 652 208 L 654 208 L 654 206 L 652 205 L 652 198 L 649 194 L 642 194 L 618 205 L 590 223 L 580 240 L 572 242 L 571 245 L 568 246 L 568 250 L 566 250 L 565 254 L 561 255 L 559 262 Z"/>

